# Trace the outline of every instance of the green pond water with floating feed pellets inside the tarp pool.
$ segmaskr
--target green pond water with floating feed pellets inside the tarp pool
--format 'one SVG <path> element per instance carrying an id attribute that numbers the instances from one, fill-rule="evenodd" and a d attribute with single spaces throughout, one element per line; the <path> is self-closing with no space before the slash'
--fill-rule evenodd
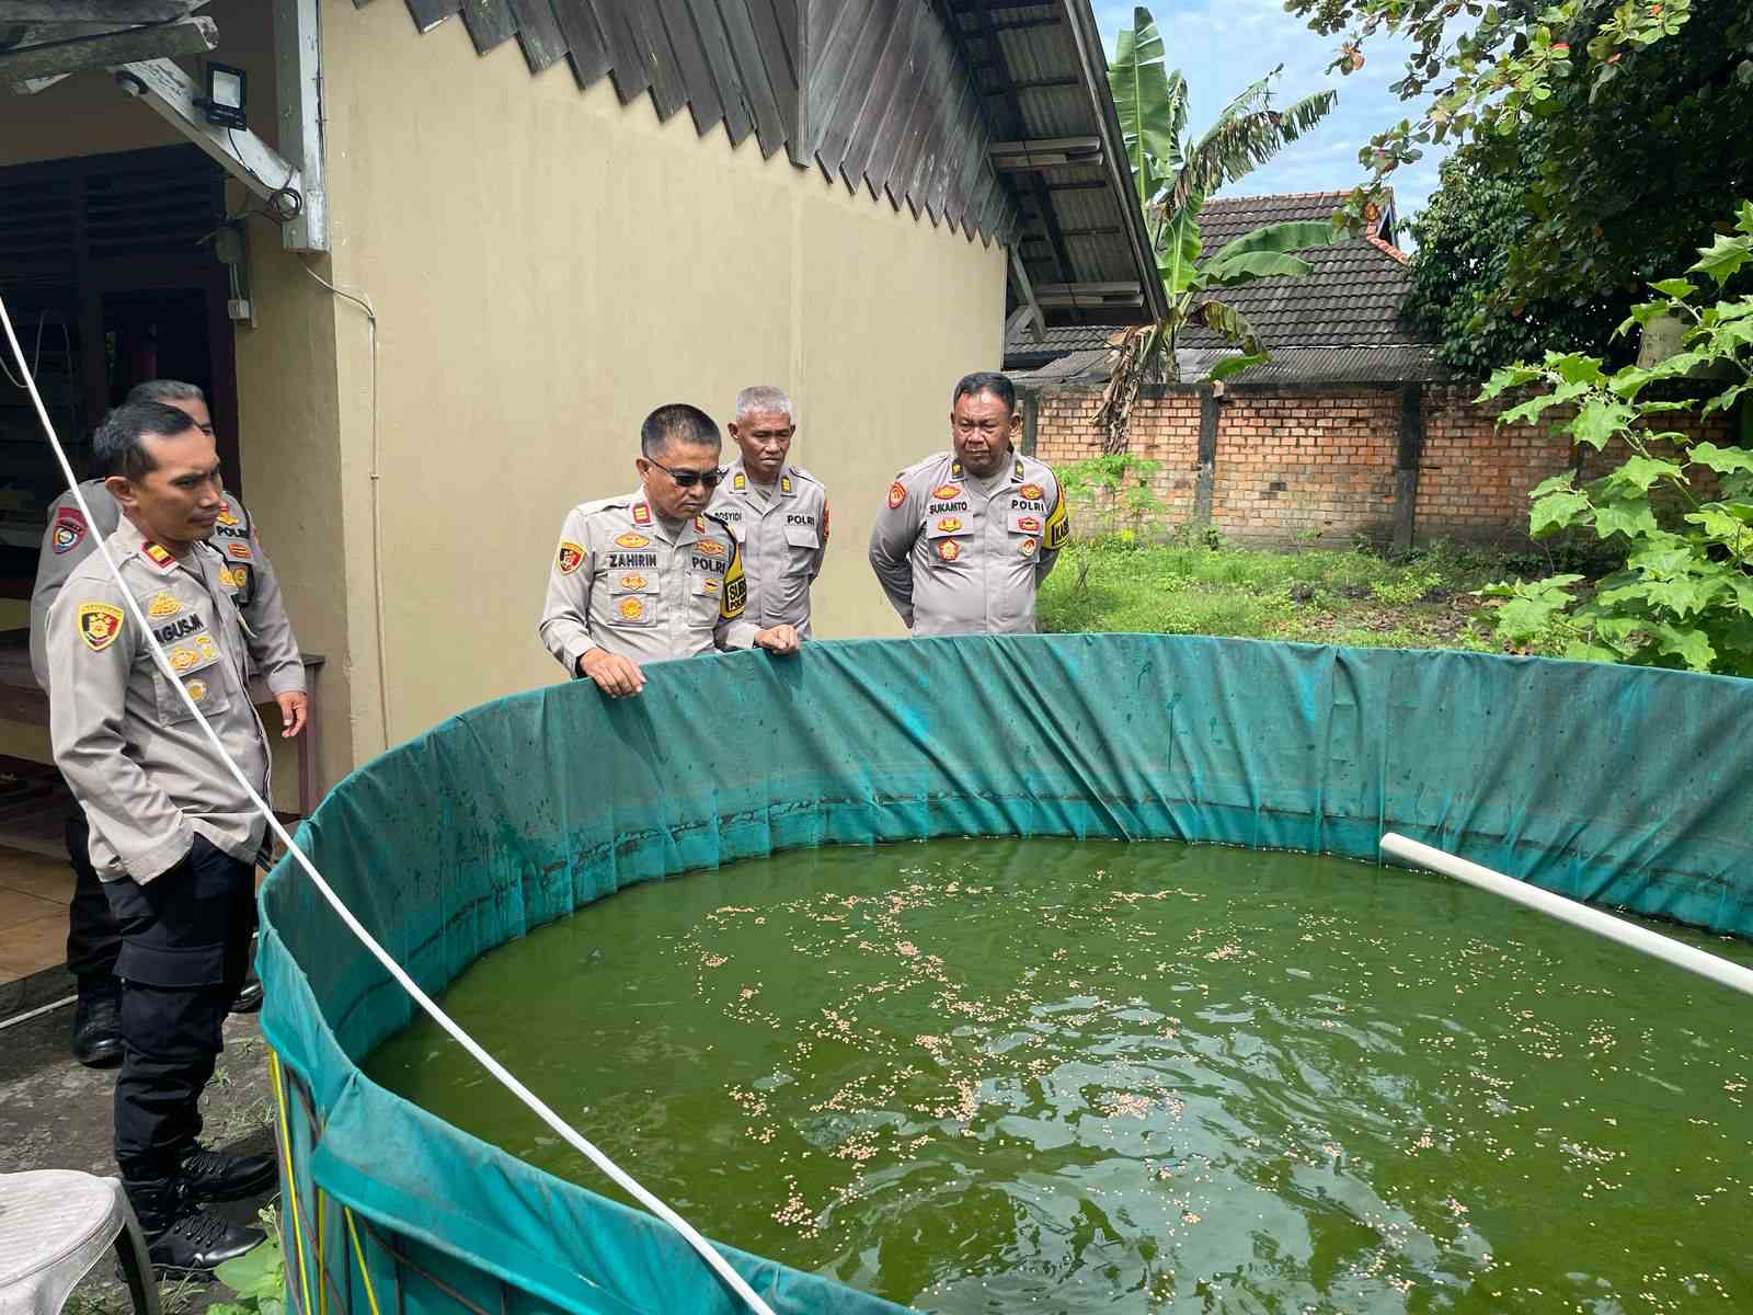
<path id="1" fill-rule="evenodd" d="M 708 1236 L 929 1311 L 1753 1310 L 1748 999 L 1436 877 L 806 850 L 445 1005 Z M 614 1194 L 435 1027 L 366 1068 Z"/>

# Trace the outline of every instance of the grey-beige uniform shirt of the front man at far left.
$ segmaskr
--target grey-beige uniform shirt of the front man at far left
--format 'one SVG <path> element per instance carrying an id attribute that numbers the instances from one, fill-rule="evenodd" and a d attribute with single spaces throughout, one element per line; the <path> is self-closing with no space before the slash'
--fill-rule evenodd
<path id="1" fill-rule="evenodd" d="M 196 544 L 177 559 L 131 521 L 107 542 L 175 680 L 266 796 L 268 738 L 249 703 L 244 624 L 221 577 L 228 558 Z M 47 663 L 54 764 L 91 822 L 100 878 L 149 882 L 181 863 L 196 835 L 235 859 L 256 859 L 261 814 L 153 661 L 96 552 L 74 568 L 49 608 Z"/>

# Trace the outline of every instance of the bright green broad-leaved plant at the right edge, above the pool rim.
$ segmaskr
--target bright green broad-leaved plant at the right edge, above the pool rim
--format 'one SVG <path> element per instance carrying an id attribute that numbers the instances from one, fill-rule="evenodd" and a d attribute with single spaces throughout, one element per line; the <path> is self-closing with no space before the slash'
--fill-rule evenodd
<path id="1" fill-rule="evenodd" d="M 1615 442 L 1629 452 L 1583 486 L 1572 472 L 1548 479 L 1530 494 L 1529 517 L 1536 538 L 1583 530 L 1615 544 L 1623 570 L 1586 598 L 1572 593 L 1579 575 L 1488 587 L 1504 600 L 1495 612 L 1501 640 L 1523 643 L 1564 622 L 1574 635 L 1567 658 L 1753 675 L 1753 451 L 1664 428 L 1674 412 L 1734 414 L 1753 398 L 1753 295 L 1723 296 L 1748 265 L 1753 202 L 1741 203 L 1735 231 L 1700 247 L 1688 270 L 1716 284 L 1716 302 L 1695 303 L 1699 284 L 1690 279 L 1664 279 L 1651 284 L 1657 300 L 1634 307 L 1620 326 L 1678 319 L 1685 331 L 1674 356 L 1609 373 L 1593 356 L 1548 352 L 1541 365 L 1492 375 L 1481 400 L 1509 387 L 1543 389 L 1506 410 L 1502 424 L 1532 424 L 1567 403 L 1576 416 L 1562 428 L 1576 444 L 1599 452 Z M 1662 394 L 1699 377 L 1709 380 L 1704 398 Z M 1662 500 L 1678 517 L 1662 515 Z"/>

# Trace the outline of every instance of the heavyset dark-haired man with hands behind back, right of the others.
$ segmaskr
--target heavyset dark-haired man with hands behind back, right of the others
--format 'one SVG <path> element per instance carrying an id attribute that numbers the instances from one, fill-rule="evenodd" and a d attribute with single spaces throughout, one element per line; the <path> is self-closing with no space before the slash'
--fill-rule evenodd
<path id="1" fill-rule="evenodd" d="M 973 373 L 950 398 L 954 452 L 896 475 L 871 530 L 871 570 L 913 635 L 1034 631 L 1034 591 L 1066 542 L 1059 480 L 1018 454 L 1017 391 Z"/>

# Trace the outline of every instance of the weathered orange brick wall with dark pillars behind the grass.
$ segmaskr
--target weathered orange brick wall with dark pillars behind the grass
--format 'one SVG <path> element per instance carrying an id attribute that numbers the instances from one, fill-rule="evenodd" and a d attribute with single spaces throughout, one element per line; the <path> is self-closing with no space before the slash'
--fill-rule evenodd
<path id="1" fill-rule="evenodd" d="M 1199 423 L 1208 387 L 1175 386 L 1139 396 L 1129 451 L 1160 463 L 1153 486 L 1167 522 L 1197 514 Z M 1210 477 L 1210 519 L 1234 542 L 1346 544 L 1357 535 L 1387 542 L 1401 510 L 1402 393 L 1392 387 L 1231 389 L 1217 403 L 1217 442 Z M 1571 468 L 1567 435 L 1551 433 L 1567 412 L 1551 409 L 1537 424 L 1495 428 L 1515 398 L 1476 405 L 1474 386 L 1427 386 L 1420 393 L 1415 537 L 1516 540 L 1527 537 L 1529 489 Z M 1099 387 L 1041 393 L 1036 456 L 1061 466 L 1101 452 Z M 1676 414 L 1671 428 L 1730 444 L 1727 416 L 1699 421 Z M 1583 479 L 1625 458 L 1609 445 L 1586 452 Z M 1706 496 L 1714 489 L 1704 482 Z M 1103 517 L 1080 517 L 1083 533 Z"/>

